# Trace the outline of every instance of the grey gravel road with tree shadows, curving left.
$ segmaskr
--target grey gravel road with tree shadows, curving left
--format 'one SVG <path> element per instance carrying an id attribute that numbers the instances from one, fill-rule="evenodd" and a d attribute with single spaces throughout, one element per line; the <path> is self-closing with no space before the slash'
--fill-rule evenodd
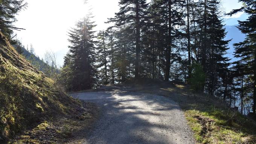
<path id="1" fill-rule="evenodd" d="M 171 99 L 128 91 L 72 94 L 96 103 L 102 115 L 85 144 L 194 144 L 183 111 Z"/>

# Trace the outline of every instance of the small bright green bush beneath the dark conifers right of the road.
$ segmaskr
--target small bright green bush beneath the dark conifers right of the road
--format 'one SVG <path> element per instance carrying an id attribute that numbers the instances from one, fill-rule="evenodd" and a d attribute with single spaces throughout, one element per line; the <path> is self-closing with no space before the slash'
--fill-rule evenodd
<path id="1" fill-rule="evenodd" d="M 189 79 L 190 86 L 195 91 L 200 91 L 205 83 L 205 74 L 203 68 L 200 64 L 194 63 L 192 65 L 192 74 L 191 78 Z"/>

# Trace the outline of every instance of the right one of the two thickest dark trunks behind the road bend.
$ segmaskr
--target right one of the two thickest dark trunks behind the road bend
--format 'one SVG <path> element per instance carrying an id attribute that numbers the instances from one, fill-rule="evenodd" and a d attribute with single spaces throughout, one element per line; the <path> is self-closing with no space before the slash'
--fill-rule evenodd
<path id="1" fill-rule="evenodd" d="M 169 81 L 170 77 L 170 67 L 171 67 L 171 30 L 172 30 L 172 15 L 171 15 L 171 0 L 168 0 L 168 13 L 169 13 L 169 26 L 168 26 L 168 50 L 167 50 L 167 59 L 166 59 L 166 71 L 165 71 L 165 81 Z"/>

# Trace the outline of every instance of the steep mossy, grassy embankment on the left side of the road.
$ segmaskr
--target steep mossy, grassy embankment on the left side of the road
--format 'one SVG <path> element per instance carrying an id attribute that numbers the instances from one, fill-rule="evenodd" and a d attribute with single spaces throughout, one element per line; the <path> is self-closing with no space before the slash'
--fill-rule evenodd
<path id="1" fill-rule="evenodd" d="M 81 103 L 32 67 L 0 32 L 0 141 L 35 122 L 73 113 Z"/>

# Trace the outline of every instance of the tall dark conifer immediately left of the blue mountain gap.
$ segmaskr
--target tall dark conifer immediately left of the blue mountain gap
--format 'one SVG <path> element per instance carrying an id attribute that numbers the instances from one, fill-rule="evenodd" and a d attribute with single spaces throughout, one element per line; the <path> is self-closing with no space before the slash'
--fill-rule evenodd
<path id="1" fill-rule="evenodd" d="M 219 16 L 219 1 L 208 0 L 207 1 L 208 18 L 207 18 L 207 41 L 208 48 L 206 48 L 206 64 L 205 71 L 207 74 L 207 90 L 210 95 L 214 95 L 215 90 L 225 83 L 225 81 L 219 81 L 219 78 L 227 77 L 229 63 L 227 57 L 225 57 L 227 45 L 230 40 L 224 40 L 226 36 L 224 25 Z M 223 77 L 224 76 L 224 77 Z M 226 85 L 226 84 L 224 84 Z"/>

